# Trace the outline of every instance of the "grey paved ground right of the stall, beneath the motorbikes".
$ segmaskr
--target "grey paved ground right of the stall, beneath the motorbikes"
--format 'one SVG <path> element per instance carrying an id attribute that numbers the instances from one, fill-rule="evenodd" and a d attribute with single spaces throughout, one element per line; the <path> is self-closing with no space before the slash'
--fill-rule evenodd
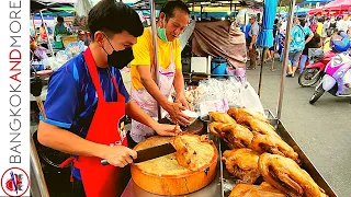
<path id="1" fill-rule="evenodd" d="M 281 70 L 270 71 L 264 65 L 261 101 L 276 112 Z M 275 63 L 275 68 L 280 62 Z M 258 90 L 259 68 L 249 70 L 248 80 Z M 282 123 L 298 146 L 339 197 L 351 194 L 351 104 L 350 99 L 322 95 L 308 103 L 314 88 L 301 88 L 297 77 L 285 82 Z"/>

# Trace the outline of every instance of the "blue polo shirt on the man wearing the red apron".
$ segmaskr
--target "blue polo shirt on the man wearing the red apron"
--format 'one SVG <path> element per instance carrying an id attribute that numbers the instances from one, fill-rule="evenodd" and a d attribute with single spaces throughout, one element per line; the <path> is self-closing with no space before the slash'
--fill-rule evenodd
<path id="1" fill-rule="evenodd" d="M 106 102 L 116 102 L 116 91 L 110 76 L 116 79 L 118 91 L 129 102 L 121 72 L 114 67 L 98 68 L 100 83 Z M 75 132 L 86 138 L 98 106 L 98 97 L 83 55 L 80 54 L 55 71 L 48 82 L 47 96 L 44 104 L 45 123 Z M 113 116 L 113 112 L 106 114 Z M 44 121 L 41 116 L 41 120 Z M 80 178 L 78 169 L 72 167 L 72 175 Z"/>

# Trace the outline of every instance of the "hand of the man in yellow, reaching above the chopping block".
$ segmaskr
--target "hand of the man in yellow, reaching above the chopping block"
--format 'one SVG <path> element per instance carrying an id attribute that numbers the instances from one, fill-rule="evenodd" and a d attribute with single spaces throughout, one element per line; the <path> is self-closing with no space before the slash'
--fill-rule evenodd
<path id="1" fill-rule="evenodd" d="M 168 112 L 176 124 L 178 123 L 182 126 L 188 126 L 190 124 L 189 117 L 181 112 L 186 109 L 184 106 L 182 106 L 182 104 L 169 102 L 166 106 L 162 107 Z"/>

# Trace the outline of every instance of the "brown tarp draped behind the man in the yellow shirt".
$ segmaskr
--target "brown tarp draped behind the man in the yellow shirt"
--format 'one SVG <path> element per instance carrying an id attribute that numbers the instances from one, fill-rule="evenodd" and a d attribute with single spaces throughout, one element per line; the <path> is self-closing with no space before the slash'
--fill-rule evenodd
<path id="1" fill-rule="evenodd" d="M 192 39 L 196 56 L 220 57 L 235 68 L 244 68 L 247 60 L 244 33 L 230 21 L 196 22 Z"/>

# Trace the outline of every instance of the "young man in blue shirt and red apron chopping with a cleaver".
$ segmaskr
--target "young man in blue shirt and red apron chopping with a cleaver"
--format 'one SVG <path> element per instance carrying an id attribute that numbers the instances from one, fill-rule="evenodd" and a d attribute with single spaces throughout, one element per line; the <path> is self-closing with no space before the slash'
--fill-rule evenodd
<path id="1" fill-rule="evenodd" d="M 161 136 L 174 136 L 174 126 L 158 124 L 131 101 L 118 70 L 132 61 L 132 46 L 143 34 L 138 14 L 124 3 L 101 0 L 88 25 L 89 48 L 50 77 L 38 141 L 75 155 L 73 196 L 120 196 L 121 170 L 137 157 L 127 148 L 124 115 Z M 102 159 L 111 165 L 101 165 Z"/>

